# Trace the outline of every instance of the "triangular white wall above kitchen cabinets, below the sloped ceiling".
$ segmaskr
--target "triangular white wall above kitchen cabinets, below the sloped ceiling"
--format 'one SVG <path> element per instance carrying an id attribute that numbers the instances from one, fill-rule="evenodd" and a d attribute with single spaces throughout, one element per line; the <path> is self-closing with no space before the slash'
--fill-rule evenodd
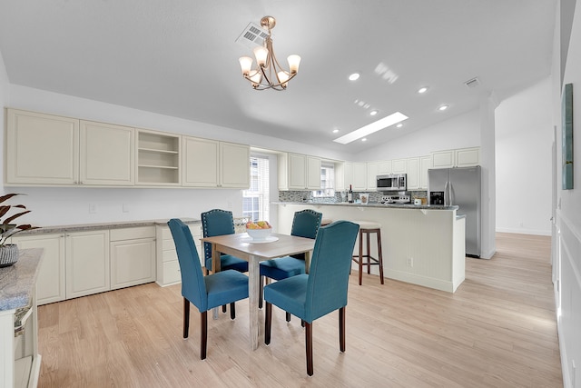
<path id="1" fill-rule="evenodd" d="M 355 161 L 423 156 L 432 151 L 479 145 L 480 115 L 478 109 L 475 109 L 356 154 Z"/>

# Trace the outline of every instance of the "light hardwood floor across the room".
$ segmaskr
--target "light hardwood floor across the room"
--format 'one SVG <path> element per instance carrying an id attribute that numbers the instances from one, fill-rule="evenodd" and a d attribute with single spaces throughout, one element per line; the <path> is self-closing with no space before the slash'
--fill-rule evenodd
<path id="1" fill-rule="evenodd" d="M 314 375 L 300 320 L 273 308 L 272 340 L 249 345 L 248 303 L 236 320 L 199 313 L 182 339 L 180 285 L 144 284 L 39 307 L 40 387 L 561 387 L 550 239 L 497 234 L 491 260 L 467 259 L 456 293 L 357 272 L 350 276 L 347 351 L 338 313 L 315 321 Z M 389 260 L 389 258 L 384 259 Z"/>

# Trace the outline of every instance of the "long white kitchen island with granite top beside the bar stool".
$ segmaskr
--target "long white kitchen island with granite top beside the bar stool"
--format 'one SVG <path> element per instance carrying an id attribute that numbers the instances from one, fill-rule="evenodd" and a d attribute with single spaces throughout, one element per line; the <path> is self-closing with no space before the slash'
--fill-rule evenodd
<path id="1" fill-rule="evenodd" d="M 290 234 L 294 213 L 312 209 L 331 221 L 381 224 L 383 272 L 386 277 L 454 293 L 465 279 L 465 218 L 458 206 L 415 204 L 347 204 L 279 202 L 278 228 Z M 371 239 L 371 250 L 377 243 Z M 359 253 L 359 242 L 354 254 Z M 353 267 L 354 270 L 358 268 Z M 375 270 L 375 272 L 373 272 Z M 372 268 L 372 273 L 379 270 Z"/>

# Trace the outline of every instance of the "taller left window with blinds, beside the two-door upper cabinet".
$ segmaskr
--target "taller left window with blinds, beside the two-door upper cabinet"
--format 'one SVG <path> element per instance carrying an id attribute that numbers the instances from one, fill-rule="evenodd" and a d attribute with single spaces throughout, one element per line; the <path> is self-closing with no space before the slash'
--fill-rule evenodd
<path id="1" fill-rule="evenodd" d="M 269 220 L 269 159 L 251 156 L 251 185 L 242 192 L 242 215 L 251 221 Z"/>

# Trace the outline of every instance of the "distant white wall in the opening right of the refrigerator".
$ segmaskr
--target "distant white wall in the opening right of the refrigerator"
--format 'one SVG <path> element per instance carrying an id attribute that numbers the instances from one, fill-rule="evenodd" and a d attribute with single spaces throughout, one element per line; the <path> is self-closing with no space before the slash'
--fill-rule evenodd
<path id="1" fill-rule="evenodd" d="M 498 104 L 498 232 L 551 234 L 552 144 L 550 78 Z"/>

